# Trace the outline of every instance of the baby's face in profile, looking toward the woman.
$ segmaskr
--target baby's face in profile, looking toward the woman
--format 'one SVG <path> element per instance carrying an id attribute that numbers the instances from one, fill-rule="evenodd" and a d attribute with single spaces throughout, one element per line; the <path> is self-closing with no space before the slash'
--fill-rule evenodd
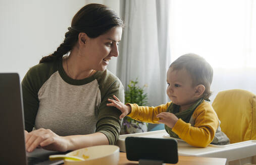
<path id="1" fill-rule="evenodd" d="M 192 87 L 192 78 L 185 68 L 173 70 L 169 68 L 167 71 L 167 95 L 170 100 L 179 105 L 181 110 L 189 108 L 195 98 L 195 87 Z"/>

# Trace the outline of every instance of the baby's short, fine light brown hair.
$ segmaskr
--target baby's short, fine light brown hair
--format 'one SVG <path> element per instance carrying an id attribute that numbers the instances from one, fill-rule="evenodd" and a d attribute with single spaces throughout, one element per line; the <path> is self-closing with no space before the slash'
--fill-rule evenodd
<path id="1" fill-rule="evenodd" d="M 210 87 L 213 81 L 213 68 L 204 58 L 188 53 L 177 58 L 170 67 L 173 70 L 185 68 L 192 78 L 192 86 L 203 85 L 206 90 L 202 98 L 209 99 L 212 95 Z"/>

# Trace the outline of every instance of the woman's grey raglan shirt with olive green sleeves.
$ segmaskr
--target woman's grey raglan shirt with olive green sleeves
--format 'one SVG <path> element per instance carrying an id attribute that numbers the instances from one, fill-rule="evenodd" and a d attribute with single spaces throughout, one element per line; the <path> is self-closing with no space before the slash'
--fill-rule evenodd
<path id="1" fill-rule="evenodd" d="M 60 136 L 104 133 L 110 144 L 119 138 L 121 112 L 108 107 L 108 98 L 124 102 L 121 81 L 109 70 L 75 80 L 62 60 L 30 68 L 22 80 L 25 129 L 50 129 Z"/>

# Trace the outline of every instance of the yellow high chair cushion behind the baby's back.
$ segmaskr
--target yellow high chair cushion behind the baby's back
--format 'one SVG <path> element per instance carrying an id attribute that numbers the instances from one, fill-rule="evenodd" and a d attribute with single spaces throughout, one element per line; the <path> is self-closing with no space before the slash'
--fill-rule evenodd
<path id="1" fill-rule="evenodd" d="M 256 96 L 245 90 L 219 92 L 213 104 L 230 143 L 256 140 Z"/>

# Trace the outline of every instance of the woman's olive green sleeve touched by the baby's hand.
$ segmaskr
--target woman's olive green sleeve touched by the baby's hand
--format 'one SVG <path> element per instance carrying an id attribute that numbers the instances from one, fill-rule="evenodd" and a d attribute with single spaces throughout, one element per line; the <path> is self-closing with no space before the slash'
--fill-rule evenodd
<path id="1" fill-rule="evenodd" d="M 109 78 L 107 81 L 110 81 Z M 96 132 L 104 133 L 111 145 L 115 144 L 119 138 L 122 120 L 119 119 L 121 112 L 115 107 L 108 107 L 108 98 L 113 99 L 117 96 L 121 102 L 124 102 L 124 88 L 121 81 L 116 77 L 110 86 L 108 82 L 102 82 L 99 85 L 101 91 L 101 103 L 99 106 L 98 121 L 96 123 Z"/>

